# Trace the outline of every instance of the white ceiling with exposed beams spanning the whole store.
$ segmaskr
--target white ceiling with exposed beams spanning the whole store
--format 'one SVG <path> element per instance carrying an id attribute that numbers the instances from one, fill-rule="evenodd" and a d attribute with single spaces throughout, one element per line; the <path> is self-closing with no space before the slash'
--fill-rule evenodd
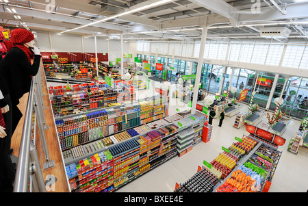
<path id="1" fill-rule="evenodd" d="M 22 27 L 21 22 L 23 22 L 29 29 L 57 33 L 64 31 L 83 36 L 96 34 L 110 36 L 123 32 L 125 37 L 138 40 L 157 37 L 171 40 L 175 35 L 182 36 L 185 40 L 200 40 L 202 32 L 200 28 L 203 27 L 205 18 L 209 26 L 209 37 L 214 40 L 222 38 L 224 40 L 264 40 L 259 35 L 259 29 L 277 26 L 264 25 L 264 23 L 307 21 L 303 24 L 290 23 L 279 26 L 292 30 L 288 40 L 306 41 L 308 39 L 305 37 L 308 36 L 308 2 L 294 3 L 293 0 L 256 0 L 259 4 L 251 3 L 251 0 L 173 0 L 154 8 L 75 29 L 156 1 L 160 0 L 9 0 L 8 3 L 0 2 L 0 18 L 2 23 L 8 23 L 10 27 L 16 27 L 16 25 Z M 261 13 L 253 14 L 252 8 L 255 8 L 253 5 L 259 5 Z M 21 19 L 14 18 L 14 14 L 6 8 L 15 8 L 16 15 L 21 16 Z M 262 25 L 257 25 L 260 23 Z M 226 25 L 228 27 L 223 27 Z M 175 29 L 192 28 L 196 30 L 170 32 Z M 75 30 L 67 31 L 70 29 Z M 137 31 L 142 34 L 136 34 Z M 159 32 L 144 33 L 144 31 Z M 132 32 L 134 34 L 131 34 Z"/>

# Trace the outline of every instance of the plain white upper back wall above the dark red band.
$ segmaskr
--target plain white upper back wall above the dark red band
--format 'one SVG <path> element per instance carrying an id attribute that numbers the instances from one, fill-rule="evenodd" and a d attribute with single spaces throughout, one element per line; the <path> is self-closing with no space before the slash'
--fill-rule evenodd
<path id="1" fill-rule="evenodd" d="M 72 34 L 57 35 L 49 31 L 36 31 L 40 51 L 45 52 L 84 52 L 94 53 L 94 37 L 84 38 Z M 83 43 L 82 43 L 83 42 Z M 116 61 L 121 57 L 120 40 L 107 40 L 106 37 L 97 37 L 97 52 L 108 53 L 109 61 Z M 136 57 L 136 42 L 123 42 L 123 53 L 132 53 Z M 124 59 L 124 62 L 133 62 L 132 59 Z"/>

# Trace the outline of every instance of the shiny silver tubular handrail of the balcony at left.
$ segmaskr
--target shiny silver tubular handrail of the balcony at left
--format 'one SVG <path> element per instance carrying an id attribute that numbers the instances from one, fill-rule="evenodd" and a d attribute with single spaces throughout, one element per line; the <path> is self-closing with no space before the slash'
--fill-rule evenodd
<path id="1" fill-rule="evenodd" d="M 21 136 L 21 146 L 19 149 L 18 164 L 14 180 L 13 192 L 27 192 L 30 162 L 30 141 L 31 141 L 31 124 L 34 111 L 34 79 L 31 80 L 29 97 L 27 101 L 27 110 L 25 121 L 23 123 L 23 133 Z"/>

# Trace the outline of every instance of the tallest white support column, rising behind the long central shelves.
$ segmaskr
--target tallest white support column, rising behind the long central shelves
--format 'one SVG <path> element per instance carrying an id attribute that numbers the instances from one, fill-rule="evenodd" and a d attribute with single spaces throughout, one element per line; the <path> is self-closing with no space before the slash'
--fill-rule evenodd
<path id="1" fill-rule="evenodd" d="M 201 44 L 200 44 L 200 51 L 199 51 L 199 58 L 198 58 L 198 67 L 196 70 L 196 81 L 194 83 L 194 96 L 192 98 L 192 111 L 191 113 L 194 114 L 196 112 L 196 102 L 198 100 L 198 90 L 199 90 L 199 83 L 201 78 L 201 71 L 202 71 L 202 63 L 203 63 L 203 56 L 205 51 L 205 42 L 207 40 L 207 23 L 203 26 L 202 29 L 202 36 L 201 36 Z"/>

